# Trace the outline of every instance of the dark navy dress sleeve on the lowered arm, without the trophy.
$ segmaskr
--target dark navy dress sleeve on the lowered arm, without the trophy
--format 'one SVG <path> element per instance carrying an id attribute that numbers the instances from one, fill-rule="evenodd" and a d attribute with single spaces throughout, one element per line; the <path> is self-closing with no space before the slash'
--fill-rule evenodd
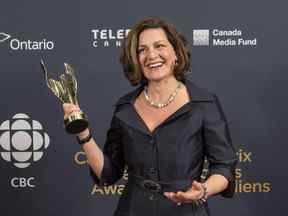
<path id="1" fill-rule="evenodd" d="M 221 195 L 232 197 L 235 191 L 237 157 L 227 120 L 216 95 L 213 95 L 212 103 L 205 105 L 204 141 L 205 154 L 209 163 L 207 177 L 213 174 L 224 176 L 229 184 Z"/>

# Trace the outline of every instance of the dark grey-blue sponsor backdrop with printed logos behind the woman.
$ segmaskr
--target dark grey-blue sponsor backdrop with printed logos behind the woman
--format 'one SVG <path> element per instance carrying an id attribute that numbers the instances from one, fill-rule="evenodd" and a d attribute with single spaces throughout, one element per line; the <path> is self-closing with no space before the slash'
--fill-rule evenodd
<path id="1" fill-rule="evenodd" d="M 1 1 L 0 214 L 113 214 L 127 176 L 98 187 L 62 106 L 47 88 L 71 64 L 79 100 L 103 147 L 113 104 L 133 88 L 119 64 L 129 28 L 157 16 L 184 33 L 189 79 L 223 105 L 240 163 L 233 199 L 209 199 L 213 215 L 288 210 L 287 5 L 285 1 Z M 284 199 L 282 199 L 283 197 Z"/>

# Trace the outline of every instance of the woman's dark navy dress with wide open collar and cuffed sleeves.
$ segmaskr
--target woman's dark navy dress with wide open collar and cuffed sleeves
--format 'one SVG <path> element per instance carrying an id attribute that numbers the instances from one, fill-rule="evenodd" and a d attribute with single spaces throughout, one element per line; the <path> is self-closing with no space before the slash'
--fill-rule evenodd
<path id="1" fill-rule="evenodd" d="M 134 108 L 143 90 L 140 86 L 115 104 L 104 145 L 104 166 L 100 178 L 90 168 L 98 185 L 113 184 L 128 170 L 128 181 L 115 216 L 208 216 L 208 203 L 177 205 L 140 187 L 135 176 L 155 182 L 177 182 L 169 191 L 187 190 L 200 181 L 205 158 L 208 177 L 220 174 L 228 181 L 221 194 L 232 197 L 235 190 L 237 157 L 227 120 L 215 94 L 183 80 L 190 101 L 169 116 L 151 133 Z M 174 184 L 173 184 L 174 185 Z"/>

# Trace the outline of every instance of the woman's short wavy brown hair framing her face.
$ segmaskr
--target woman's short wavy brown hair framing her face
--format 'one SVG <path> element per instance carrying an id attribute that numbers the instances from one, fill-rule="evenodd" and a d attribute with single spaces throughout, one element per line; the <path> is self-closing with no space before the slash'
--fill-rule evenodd
<path id="1" fill-rule="evenodd" d="M 174 68 L 176 79 L 183 80 L 185 72 L 191 70 L 190 51 L 187 46 L 187 40 L 179 33 L 176 28 L 159 18 L 148 18 L 137 23 L 128 33 L 124 41 L 120 62 L 123 67 L 125 77 L 135 86 L 146 82 L 141 66 L 138 60 L 139 35 L 145 29 L 161 28 L 164 30 L 168 41 L 174 48 L 177 57 L 177 65 Z"/>

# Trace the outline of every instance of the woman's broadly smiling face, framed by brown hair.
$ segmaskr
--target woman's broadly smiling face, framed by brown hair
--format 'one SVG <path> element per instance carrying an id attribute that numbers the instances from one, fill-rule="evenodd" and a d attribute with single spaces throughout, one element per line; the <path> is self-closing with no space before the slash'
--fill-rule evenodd
<path id="1" fill-rule="evenodd" d="M 176 54 L 162 28 L 146 29 L 139 35 L 138 60 L 148 81 L 174 76 Z"/>

